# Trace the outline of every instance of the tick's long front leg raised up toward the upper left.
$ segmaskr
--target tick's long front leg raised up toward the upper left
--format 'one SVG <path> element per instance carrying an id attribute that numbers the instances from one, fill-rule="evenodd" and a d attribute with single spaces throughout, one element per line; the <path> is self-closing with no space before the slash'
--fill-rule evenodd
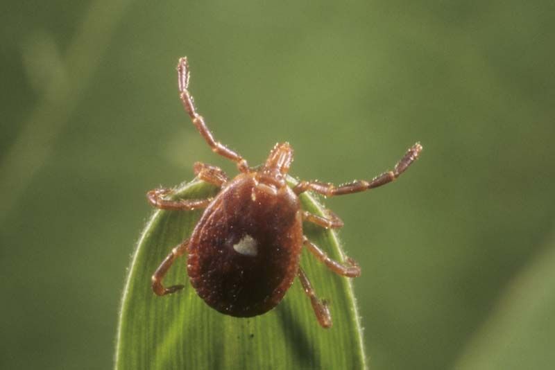
<path id="1" fill-rule="evenodd" d="M 181 102 L 183 103 L 183 107 L 185 107 L 185 110 L 189 114 L 189 117 L 191 117 L 191 121 L 193 121 L 193 124 L 195 125 L 200 135 L 203 136 L 210 148 L 212 148 L 212 151 L 236 162 L 237 168 L 239 168 L 242 173 L 248 172 L 247 161 L 238 153 L 224 146 L 219 141 L 216 141 L 214 139 L 214 136 L 212 135 L 212 132 L 210 132 L 210 130 L 208 129 L 203 116 L 200 116 L 200 114 L 196 112 L 193 96 L 191 96 L 189 90 L 187 90 L 187 87 L 189 86 L 189 64 L 187 63 L 187 57 L 180 58 L 179 60 L 178 82 L 180 98 Z"/>

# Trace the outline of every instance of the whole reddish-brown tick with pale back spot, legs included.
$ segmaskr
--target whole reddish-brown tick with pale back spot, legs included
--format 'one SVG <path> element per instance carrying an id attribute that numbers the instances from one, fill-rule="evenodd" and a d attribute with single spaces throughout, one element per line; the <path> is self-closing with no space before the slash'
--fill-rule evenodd
<path id="1" fill-rule="evenodd" d="M 163 296 L 177 292 L 183 285 L 164 287 L 162 280 L 176 258 L 187 254 L 187 274 L 197 294 L 208 306 L 234 317 L 262 315 L 278 305 L 293 279 L 298 277 L 311 301 L 318 323 L 332 326 L 327 302 L 316 297 L 308 276 L 299 265 L 300 252 L 306 247 L 332 272 L 346 277 L 360 275 L 360 267 L 346 258 L 334 261 L 302 232 L 302 222 L 339 229 L 343 221 L 327 211 L 325 216 L 302 210 L 299 195 L 314 191 L 326 197 L 366 191 L 393 181 L 418 158 L 422 146 L 413 145 L 393 170 L 370 181 L 357 180 L 334 186 L 317 181 L 300 181 L 292 188 L 286 177 L 293 161 L 289 143 L 278 143 L 262 166 L 251 168 L 237 152 L 214 139 L 203 116 L 196 112 L 188 90 L 187 58 L 178 63 L 178 85 L 185 110 L 212 151 L 234 161 L 239 175 L 230 179 L 223 170 L 209 164 L 194 164 L 199 179 L 218 186 L 214 198 L 167 200 L 170 189 L 147 193 L 158 209 L 205 209 L 191 237 L 172 249 L 152 276 L 152 289 Z"/>

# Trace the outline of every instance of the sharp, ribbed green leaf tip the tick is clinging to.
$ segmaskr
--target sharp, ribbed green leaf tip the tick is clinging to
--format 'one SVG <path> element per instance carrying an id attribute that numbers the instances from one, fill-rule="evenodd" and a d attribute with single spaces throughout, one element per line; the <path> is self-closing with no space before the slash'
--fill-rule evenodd
<path id="1" fill-rule="evenodd" d="M 202 198 L 217 192 L 198 180 L 174 197 Z M 313 197 L 302 206 L 322 214 Z M 150 281 L 170 249 L 191 234 L 201 211 L 155 211 L 137 245 L 119 317 L 116 369 L 364 369 L 361 328 L 350 280 L 333 274 L 302 252 L 301 265 L 318 296 L 329 299 L 334 324 L 318 325 L 309 299 L 295 281 L 284 300 L 258 317 L 238 319 L 208 307 L 187 283 L 185 258 L 165 281 L 186 288 L 155 297 Z M 341 261 L 332 231 L 306 225 L 305 234 Z"/>

